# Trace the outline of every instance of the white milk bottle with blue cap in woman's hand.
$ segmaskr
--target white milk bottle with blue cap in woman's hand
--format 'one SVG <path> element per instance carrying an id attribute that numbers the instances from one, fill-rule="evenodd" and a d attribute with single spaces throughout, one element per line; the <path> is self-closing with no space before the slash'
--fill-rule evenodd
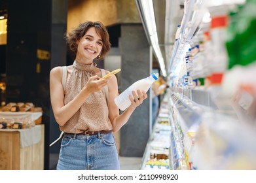
<path id="1" fill-rule="evenodd" d="M 120 110 L 126 110 L 126 108 L 128 108 L 132 104 L 132 102 L 129 99 L 129 95 L 132 95 L 132 91 L 134 90 L 136 94 L 137 90 L 141 90 L 141 92 L 147 92 L 147 90 L 149 90 L 153 82 L 155 82 L 157 79 L 158 77 L 155 75 L 155 73 L 153 73 L 147 78 L 137 80 L 136 82 L 134 82 L 134 84 L 132 84 L 129 88 L 124 90 L 124 92 L 120 93 L 120 95 L 118 95 L 115 98 L 115 104 L 117 105 L 117 107 L 120 108 Z"/>

